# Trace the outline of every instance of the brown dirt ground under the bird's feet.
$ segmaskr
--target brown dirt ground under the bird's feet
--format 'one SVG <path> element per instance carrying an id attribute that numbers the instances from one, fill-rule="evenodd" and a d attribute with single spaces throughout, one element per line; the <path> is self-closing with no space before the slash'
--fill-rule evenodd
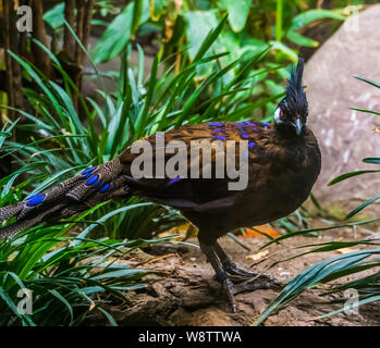
<path id="1" fill-rule="evenodd" d="M 221 238 L 220 243 L 236 264 L 247 270 L 268 272 L 278 279 L 285 281 L 294 277 L 315 262 L 338 254 L 336 251 L 308 254 L 277 264 L 268 270 L 274 261 L 299 252 L 299 250 L 292 250 L 293 247 L 340 238 L 352 240 L 365 237 L 373 238 L 373 235 L 369 236 L 367 233 L 361 234 L 360 231 L 354 232 L 348 228 L 331 231 L 314 238 L 290 238 L 284 240 L 281 246 L 270 246 L 268 256 L 260 261 L 253 261 L 253 258 L 258 257 L 258 249 L 268 241 L 267 238 L 243 238 L 242 240 L 250 248 L 250 251 L 242 248 L 230 237 Z M 195 238 L 188 243 L 197 245 Z M 206 262 L 206 257 L 198 248 L 192 246 L 155 246 L 145 251 L 139 250 L 127 261 L 120 260 L 119 262 L 127 262 L 135 268 L 159 272 L 145 277 L 145 283 L 148 285 L 145 289 L 127 293 L 132 306 L 109 306 L 108 310 L 120 325 L 252 325 L 279 293 L 272 289 L 259 289 L 236 295 L 238 311 L 232 313 L 226 297 L 221 293 L 221 286 L 212 278 L 213 271 Z M 256 264 L 252 266 L 254 263 Z M 319 296 L 322 289 L 327 288 L 328 286 L 323 285 L 303 293 L 278 313 L 269 316 L 263 325 L 375 326 L 380 324 L 380 302 L 361 306 L 358 314 L 340 313 L 318 319 L 318 316 L 342 306 L 327 303 L 332 298 Z"/>

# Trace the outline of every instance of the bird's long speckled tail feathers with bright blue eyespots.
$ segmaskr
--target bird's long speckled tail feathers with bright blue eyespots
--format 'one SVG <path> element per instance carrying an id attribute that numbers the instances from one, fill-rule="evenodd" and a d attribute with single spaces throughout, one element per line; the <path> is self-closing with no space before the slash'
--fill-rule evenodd
<path id="1" fill-rule="evenodd" d="M 44 192 L 26 198 L 15 206 L 0 209 L 0 223 L 15 216 L 16 222 L 0 228 L 0 239 L 10 239 L 19 232 L 40 222 L 70 217 L 109 199 L 128 195 L 121 175 L 119 159 L 83 171 Z"/>

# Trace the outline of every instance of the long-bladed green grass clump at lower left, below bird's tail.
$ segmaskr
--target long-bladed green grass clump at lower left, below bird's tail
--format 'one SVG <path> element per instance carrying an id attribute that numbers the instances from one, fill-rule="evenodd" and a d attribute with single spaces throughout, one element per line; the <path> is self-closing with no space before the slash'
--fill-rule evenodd
<path id="1" fill-rule="evenodd" d="M 0 148 L 11 135 L 15 123 L 5 124 L 0 132 Z M 32 163 L 0 181 L 0 207 L 12 203 L 25 195 L 33 181 L 15 184 L 17 177 L 38 167 Z M 115 240 L 107 237 L 90 238 L 96 227 L 107 221 L 149 203 L 128 204 L 89 221 L 103 202 L 81 214 L 74 221 L 59 225 L 36 226 L 11 240 L 0 240 L 0 325 L 75 325 L 100 311 L 111 325 L 117 322 L 102 309 L 95 295 L 105 293 L 120 301 L 127 301 L 124 291 L 144 287 L 142 278 L 147 271 L 118 264 L 117 257 L 127 258 L 135 248 L 160 243 L 161 239 Z M 87 221 L 79 234 L 70 234 L 77 223 Z M 75 228 L 74 228 L 75 229 Z M 20 293 L 22 290 L 22 293 Z M 20 302 L 26 291 L 32 295 L 28 307 Z M 19 297 L 21 296 L 21 297 Z M 28 312 L 26 309 L 32 311 Z M 26 310 L 26 311 L 25 311 Z"/>

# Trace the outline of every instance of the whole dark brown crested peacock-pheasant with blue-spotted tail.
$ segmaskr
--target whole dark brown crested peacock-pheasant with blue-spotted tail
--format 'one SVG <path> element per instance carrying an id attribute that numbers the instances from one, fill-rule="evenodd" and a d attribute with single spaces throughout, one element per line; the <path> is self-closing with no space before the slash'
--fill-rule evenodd
<path id="1" fill-rule="evenodd" d="M 9 239 L 37 223 L 66 219 L 101 201 L 139 196 L 180 210 L 198 227 L 200 249 L 235 311 L 235 294 L 271 287 L 275 279 L 269 274 L 235 265 L 222 250 L 218 238 L 234 228 L 266 224 L 292 213 L 307 199 L 320 172 L 318 142 L 306 126 L 308 103 L 302 85 L 303 70 L 304 61 L 299 59 L 291 72 L 286 94 L 275 110 L 273 124 L 209 122 L 184 125 L 144 139 L 151 146 L 152 163 L 159 162 L 157 153 L 168 164 L 179 152 L 157 152 L 160 150 L 157 148 L 158 138 L 164 145 L 171 140 L 185 144 L 185 160 L 188 161 L 184 175 L 173 178 L 158 175 L 156 170 L 150 177 L 134 176 L 133 161 L 140 153 L 135 153 L 132 146 L 102 165 L 84 170 L 56 187 L 0 209 L 0 221 L 16 216 L 13 224 L 0 229 L 0 237 Z M 213 149 L 210 157 L 209 176 L 191 175 L 192 169 L 205 161 L 199 153 L 192 157 L 194 153 L 189 149 L 195 140 L 219 140 L 222 144 L 222 147 Z M 247 144 L 243 153 L 236 148 L 233 163 L 242 160 L 242 156 L 247 161 L 247 185 L 243 189 L 230 189 L 229 184 L 236 182 L 235 178 L 216 175 L 218 151 L 234 142 L 229 140 L 235 144 L 245 140 Z M 236 276 L 244 281 L 233 283 Z"/>

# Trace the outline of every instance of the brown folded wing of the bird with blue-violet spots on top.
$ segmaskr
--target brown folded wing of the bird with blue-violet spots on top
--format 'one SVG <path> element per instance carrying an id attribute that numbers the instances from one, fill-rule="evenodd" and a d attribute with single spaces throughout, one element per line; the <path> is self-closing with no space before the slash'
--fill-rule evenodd
<path id="1" fill-rule="evenodd" d="M 120 156 L 124 177 L 132 190 L 159 203 L 169 204 L 179 209 L 199 211 L 229 208 L 234 203 L 238 192 L 229 189 L 229 183 L 236 179 L 229 178 L 225 166 L 235 165 L 235 169 L 238 169 L 241 152 L 238 146 L 228 144 L 226 140 L 234 140 L 236 144 L 241 140 L 247 140 L 249 146 L 248 151 L 247 153 L 243 153 L 243 156 L 248 157 L 249 163 L 259 163 L 265 160 L 260 148 L 269 139 L 269 133 L 266 127 L 267 126 L 262 124 L 252 124 L 248 122 L 241 124 L 214 122 L 194 126 L 183 126 L 177 129 L 166 132 L 164 134 L 152 135 L 142 139 L 143 141 L 147 141 L 151 148 L 151 175 L 140 178 L 136 178 L 133 175 L 133 162 L 142 156 L 143 152 L 134 153 L 131 147 Z M 183 150 L 184 158 L 182 159 L 185 160 L 184 175 L 173 178 L 169 177 L 168 173 L 164 173 L 162 177 L 157 177 L 157 174 L 159 174 L 158 171 L 156 171 L 156 164 L 159 161 L 158 157 L 163 156 L 164 160 L 161 164 L 168 165 L 170 161 L 174 160 L 174 156 L 179 156 L 179 152 L 182 151 L 166 151 L 163 154 L 159 154 L 158 151 L 170 146 L 170 144 L 173 144 L 172 141 L 175 140 L 181 140 L 185 147 Z M 203 163 L 203 152 L 194 151 L 196 141 L 203 140 L 209 144 L 210 141 L 213 141 L 213 144 L 219 142 L 219 147 L 212 148 L 212 150 L 209 148 L 211 153 L 210 161 L 207 161 L 207 158 L 205 158 L 205 163 Z M 139 145 L 142 146 L 143 144 L 140 142 Z M 235 154 L 234 162 L 232 163 L 226 162 L 226 156 L 224 156 L 229 146 L 233 146 L 233 150 L 231 150 L 230 153 Z M 224 172 L 221 175 L 222 177 L 217 177 L 217 159 L 221 154 L 224 156 Z M 220 164 L 221 162 L 218 163 Z M 200 169 L 199 178 L 194 178 L 194 175 L 192 175 L 196 172 L 196 167 Z M 210 177 L 204 178 L 203 174 L 207 169 L 210 171 Z M 249 176 L 254 177 L 255 175 L 249 173 Z"/>

